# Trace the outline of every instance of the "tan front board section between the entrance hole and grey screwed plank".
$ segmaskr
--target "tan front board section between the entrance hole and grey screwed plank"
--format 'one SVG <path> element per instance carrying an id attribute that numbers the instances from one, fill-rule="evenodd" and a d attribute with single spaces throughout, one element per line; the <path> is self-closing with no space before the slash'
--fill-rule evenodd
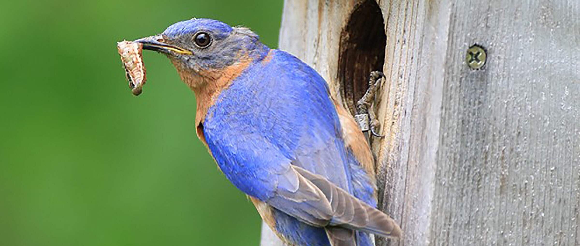
<path id="1" fill-rule="evenodd" d="M 382 2 L 386 16 L 387 83 L 379 119 L 387 137 L 374 139 L 379 208 L 400 222 L 404 238 L 386 243 L 426 245 L 432 219 L 441 98 L 451 4 Z"/>

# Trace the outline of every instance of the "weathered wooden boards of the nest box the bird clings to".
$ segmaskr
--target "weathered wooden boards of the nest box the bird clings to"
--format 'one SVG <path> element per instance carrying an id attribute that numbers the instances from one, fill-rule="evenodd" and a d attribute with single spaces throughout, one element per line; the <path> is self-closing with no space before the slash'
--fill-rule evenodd
<path id="1" fill-rule="evenodd" d="M 282 17 L 280 48 L 343 104 L 340 35 L 361 2 L 286 0 Z M 378 5 L 386 137 L 371 142 L 379 206 L 405 232 L 378 244 L 580 245 L 580 2 Z M 480 70 L 465 63 L 474 43 Z M 267 231 L 262 245 L 281 245 Z"/>

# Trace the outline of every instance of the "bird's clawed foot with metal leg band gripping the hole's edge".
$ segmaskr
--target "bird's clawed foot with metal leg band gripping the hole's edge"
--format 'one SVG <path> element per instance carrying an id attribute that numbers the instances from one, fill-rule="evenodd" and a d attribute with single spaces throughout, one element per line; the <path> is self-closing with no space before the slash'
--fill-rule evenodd
<path id="1" fill-rule="evenodd" d="M 375 117 L 375 113 L 372 110 L 372 102 L 375 99 L 376 91 L 380 87 L 381 78 L 385 78 L 385 75 L 380 71 L 372 71 L 371 75 L 369 76 L 368 80 L 368 89 L 367 92 L 361 97 L 360 100 L 357 102 L 357 115 L 354 116 L 358 126 L 361 128 L 361 131 L 371 131 L 371 134 L 375 137 L 385 137 L 384 135 L 380 135 L 376 131 L 376 127 L 378 126 L 378 120 Z M 369 122 L 371 122 L 369 124 Z"/>

